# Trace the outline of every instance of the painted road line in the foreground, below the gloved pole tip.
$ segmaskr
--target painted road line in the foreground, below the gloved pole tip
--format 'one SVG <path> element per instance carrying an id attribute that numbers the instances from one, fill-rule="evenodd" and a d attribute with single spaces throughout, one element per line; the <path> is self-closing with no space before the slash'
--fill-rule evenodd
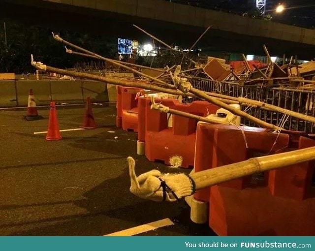
<path id="1" fill-rule="evenodd" d="M 131 227 L 122 231 L 118 231 L 118 232 L 103 235 L 103 236 L 132 236 L 132 235 L 148 232 L 148 231 L 151 231 L 151 230 L 163 227 L 163 226 L 170 226 L 170 225 L 174 225 L 174 222 L 170 220 L 169 218 L 165 218 L 163 220 L 158 220 L 158 221 L 150 222 L 144 225 Z"/>

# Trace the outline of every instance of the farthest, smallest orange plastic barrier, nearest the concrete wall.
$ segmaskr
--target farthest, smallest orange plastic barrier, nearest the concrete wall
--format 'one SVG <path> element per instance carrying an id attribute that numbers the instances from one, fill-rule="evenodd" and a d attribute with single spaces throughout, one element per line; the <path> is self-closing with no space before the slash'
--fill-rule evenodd
<path id="1" fill-rule="evenodd" d="M 124 130 L 138 130 L 137 93 L 142 89 L 117 86 L 116 126 Z"/>

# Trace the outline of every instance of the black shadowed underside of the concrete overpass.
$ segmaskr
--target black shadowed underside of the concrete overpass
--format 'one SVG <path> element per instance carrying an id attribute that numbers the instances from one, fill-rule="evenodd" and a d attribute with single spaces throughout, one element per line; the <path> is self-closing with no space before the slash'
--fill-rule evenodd
<path id="1" fill-rule="evenodd" d="M 196 25 L 179 24 L 158 18 L 150 19 L 95 8 L 56 3 L 49 0 L 0 0 L 0 5 L 0 17 L 2 18 L 49 27 L 56 32 L 70 30 L 106 34 L 109 37 L 152 41 L 149 36 L 132 26 L 132 24 L 136 24 L 168 44 L 190 47 L 205 30 L 205 27 Z M 235 15 L 231 15 L 231 17 L 241 18 Z M 195 22 L 192 20 L 191 23 L 194 24 Z M 231 23 L 233 23 L 233 20 L 231 20 Z M 218 25 L 214 25 L 199 41 L 198 46 L 211 51 L 264 55 L 262 45 L 266 44 L 270 54 L 275 56 L 285 54 L 290 57 L 297 55 L 298 59 L 301 60 L 310 60 L 314 57 L 314 44 L 257 36 L 255 32 L 252 32 L 253 35 L 248 35 L 223 31 L 218 27 Z M 307 31 L 309 32 L 309 30 Z M 244 31 L 244 33 L 247 32 Z M 259 32 L 257 31 L 257 33 Z"/>

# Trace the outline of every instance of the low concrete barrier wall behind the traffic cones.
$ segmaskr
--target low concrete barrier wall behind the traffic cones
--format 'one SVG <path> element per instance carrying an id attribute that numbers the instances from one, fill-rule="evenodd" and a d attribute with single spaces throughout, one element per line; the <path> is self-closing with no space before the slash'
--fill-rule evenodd
<path id="1" fill-rule="evenodd" d="M 56 103 L 108 102 L 107 84 L 91 80 L 3 80 L 0 81 L 0 107 L 27 106 L 29 90 L 34 92 L 37 105 Z M 116 90 L 114 90 L 116 92 Z"/>

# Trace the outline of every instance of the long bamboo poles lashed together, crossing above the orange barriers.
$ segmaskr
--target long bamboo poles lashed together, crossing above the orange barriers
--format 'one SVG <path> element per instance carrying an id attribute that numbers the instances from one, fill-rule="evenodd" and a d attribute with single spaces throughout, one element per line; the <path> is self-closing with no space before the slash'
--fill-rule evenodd
<path id="1" fill-rule="evenodd" d="M 140 29 L 139 27 L 136 27 L 136 28 Z M 209 30 L 209 28 L 207 30 Z M 143 31 L 143 30 L 141 30 L 141 31 Z M 146 31 L 144 31 L 144 32 L 147 33 L 148 35 L 150 35 L 151 37 L 155 38 L 159 42 L 163 43 L 164 45 L 167 45 L 166 43 L 157 39 L 156 37 L 149 34 L 148 32 L 146 32 Z M 60 42 L 64 43 L 65 45 L 70 46 L 70 47 L 77 49 L 77 50 L 82 52 L 82 53 L 81 52 L 74 52 L 74 51 L 66 48 L 67 53 L 81 55 L 81 56 L 85 56 L 85 57 L 90 57 L 90 58 L 94 58 L 97 60 L 103 60 L 105 62 L 115 64 L 119 67 L 122 67 L 122 68 L 128 70 L 128 71 L 131 71 L 133 73 L 140 75 L 142 78 L 147 80 L 147 83 L 136 82 L 136 81 L 126 81 L 126 80 L 114 79 L 114 78 L 109 78 L 109 77 L 96 76 L 96 75 L 89 74 L 89 73 L 69 71 L 69 70 L 64 70 L 64 69 L 59 69 L 59 68 L 51 67 L 48 65 L 44 65 L 42 63 L 36 63 L 36 62 L 33 62 L 33 60 L 32 60 L 32 64 L 37 69 L 40 69 L 42 71 L 54 72 L 54 73 L 58 73 L 58 74 L 77 77 L 77 78 L 86 78 L 86 79 L 91 79 L 91 80 L 97 80 L 97 81 L 110 83 L 110 84 L 114 84 L 114 85 L 121 85 L 121 86 L 126 86 L 126 87 L 137 87 L 137 88 L 143 88 L 143 89 L 152 90 L 152 91 L 161 92 L 161 93 L 198 97 L 200 99 L 203 99 L 203 100 L 211 102 L 215 105 L 218 105 L 218 106 L 230 111 L 234 115 L 243 117 L 243 118 L 253 122 L 257 126 L 261 126 L 261 127 L 265 127 L 265 128 L 269 128 L 269 129 L 273 129 L 273 130 L 283 130 L 283 129 L 280 128 L 279 126 L 275 126 L 275 125 L 269 124 L 267 122 L 264 122 L 258 118 L 255 118 L 255 117 L 247 114 L 244 111 L 233 108 L 229 104 L 239 103 L 241 105 L 247 105 L 247 106 L 249 105 L 252 107 L 259 107 L 261 109 L 265 109 L 268 111 L 281 112 L 281 113 L 284 113 L 284 114 L 287 114 L 287 115 L 290 115 L 290 116 L 293 116 L 293 117 L 296 117 L 296 118 L 299 118 L 299 119 L 302 119 L 305 121 L 310 121 L 312 123 L 315 123 L 314 117 L 300 114 L 297 112 L 293 112 L 290 110 L 286 110 L 286 109 L 278 107 L 278 106 L 266 104 L 266 103 L 263 103 L 260 101 L 255 101 L 255 100 L 248 99 L 248 98 L 243 98 L 243 97 L 236 98 L 236 97 L 231 97 L 231 96 L 227 96 L 227 95 L 207 93 L 207 92 L 197 90 L 191 86 L 188 88 L 188 91 L 182 92 L 179 90 L 179 89 L 181 89 L 180 87 L 175 86 L 174 79 L 177 79 L 178 82 L 181 82 L 182 80 L 186 80 L 186 76 L 184 75 L 185 71 L 179 71 L 176 73 L 174 72 L 176 74 L 176 76 L 175 76 L 175 74 L 172 73 L 172 70 L 175 68 L 175 65 L 170 67 L 170 68 L 167 67 L 167 69 L 165 69 L 165 70 L 157 69 L 158 71 L 161 72 L 161 74 L 158 77 L 152 77 L 150 75 L 144 74 L 141 71 L 138 71 L 135 69 L 135 68 L 150 68 L 150 67 L 141 66 L 141 65 L 137 65 L 137 64 L 133 64 L 133 63 L 124 63 L 124 62 L 120 62 L 120 61 L 116 61 L 116 60 L 112 60 L 112 59 L 107 59 L 107 58 L 104 58 L 100 55 L 97 55 L 91 51 L 88 51 L 84 48 L 81 48 L 75 44 L 72 44 L 72 43 L 64 40 L 63 38 L 61 38 L 58 35 L 53 34 L 53 37 L 55 38 L 55 40 L 60 41 Z M 201 37 L 199 37 L 199 39 L 200 38 Z M 173 49 L 171 46 L 168 46 L 168 47 L 170 49 Z M 187 56 L 187 54 L 184 56 Z M 195 62 L 193 62 L 193 63 L 195 63 Z M 178 69 L 178 67 L 176 67 L 176 68 Z M 152 69 L 152 68 L 150 68 L 150 69 Z M 163 78 L 163 80 L 161 80 L 161 78 Z M 173 82 L 173 84 L 171 84 L 172 82 Z M 185 83 L 187 83 L 187 81 Z M 188 116 L 188 115 L 182 114 L 182 116 Z"/>

